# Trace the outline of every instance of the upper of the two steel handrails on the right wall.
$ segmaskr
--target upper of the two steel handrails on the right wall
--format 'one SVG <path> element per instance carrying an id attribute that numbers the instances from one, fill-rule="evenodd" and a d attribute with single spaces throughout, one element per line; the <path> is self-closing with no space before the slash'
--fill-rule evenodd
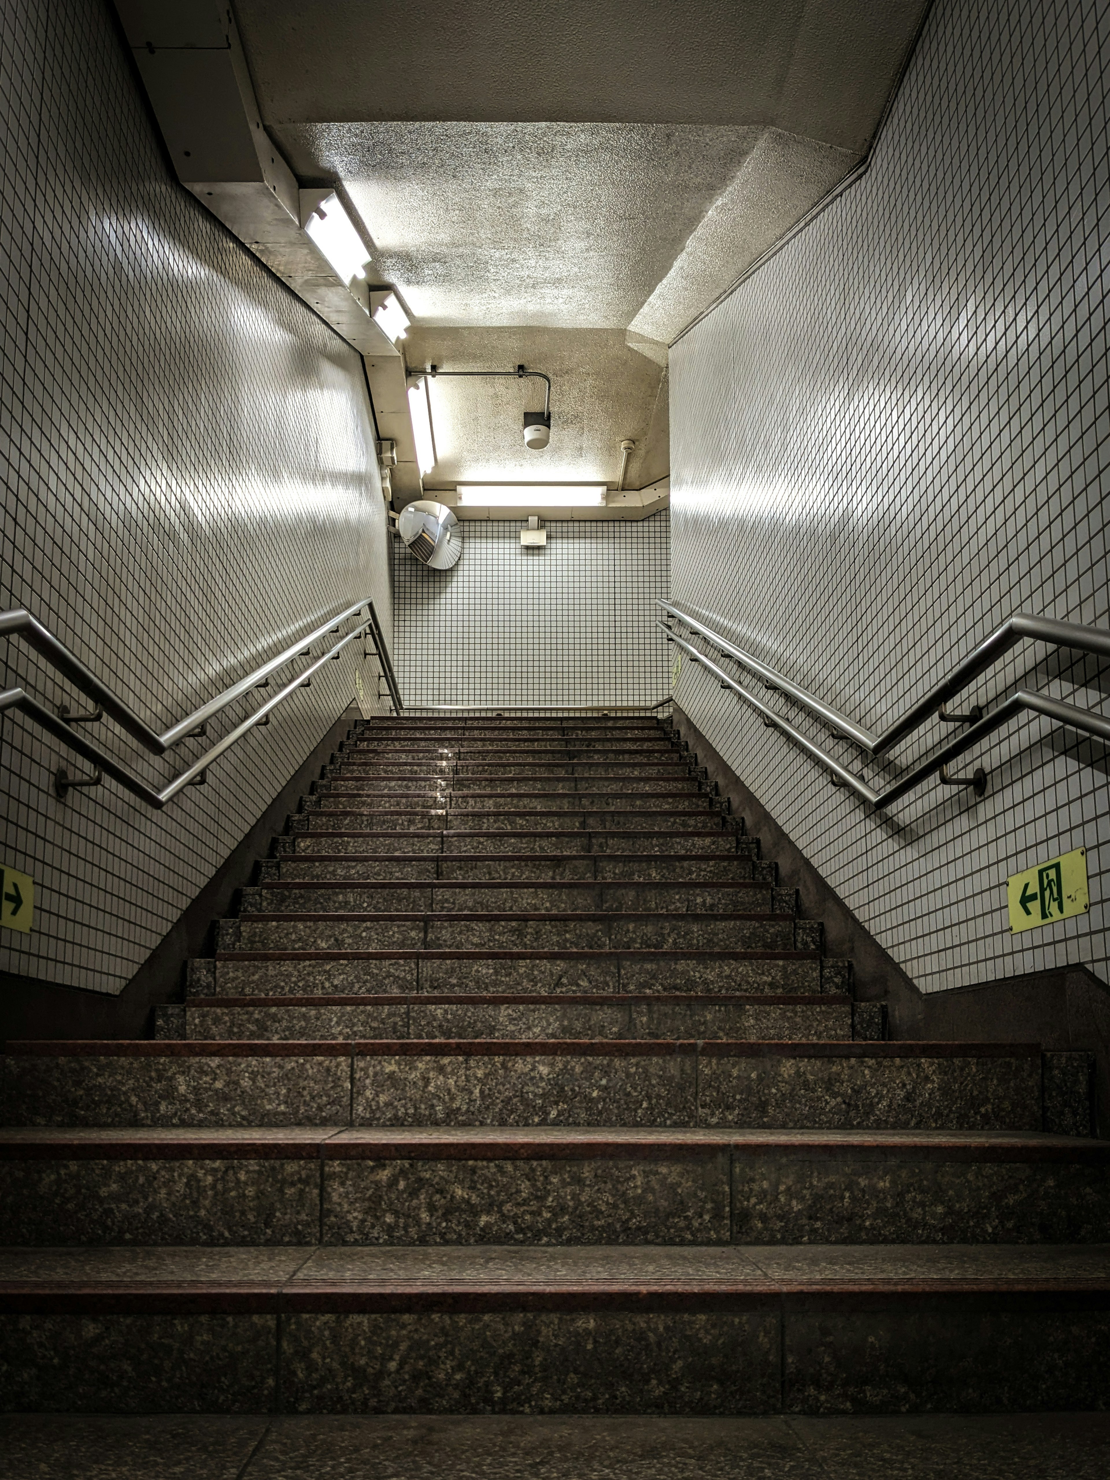
<path id="1" fill-rule="evenodd" d="M 1098 657 L 1110 659 L 1110 632 L 1104 632 L 1103 628 L 1086 628 L 1077 622 L 1055 622 L 1051 617 L 1030 617 L 1024 613 L 1017 613 L 1017 616 L 1009 617 L 989 638 L 980 642 L 924 699 L 919 699 L 916 704 L 910 704 L 900 719 L 895 719 L 881 734 L 875 734 L 848 715 L 841 713 L 839 709 L 826 704 L 824 700 L 811 694 L 808 688 L 795 684 L 793 679 L 780 673 L 778 669 L 761 662 L 750 653 L 744 653 L 743 648 L 722 638 L 719 632 L 713 632 L 712 628 L 706 626 L 704 622 L 699 622 L 697 617 L 688 616 L 688 613 L 673 605 L 673 602 L 657 598 L 656 605 L 663 607 L 672 617 L 678 617 L 693 632 L 700 632 L 722 657 L 736 659 L 737 663 L 758 673 L 771 688 L 780 688 L 784 694 L 789 694 L 813 715 L 817 715 L 818 719 L 823 719 L 833 730 L 852 740 L 869 755 L 884 755 L 898 744 L 900 740 L 904 740 L 907 734 L 919 730 L 949 699 L 955 699 L 961 690 L 966 688 L 972 679 L 998 663 L 1018 642 L 1048 642 L 1052 647 L 1070 648 L 1077 653 L 1094 653 Z M 656 626 L 663 626 L 663 623 L 657 622 Z"/>

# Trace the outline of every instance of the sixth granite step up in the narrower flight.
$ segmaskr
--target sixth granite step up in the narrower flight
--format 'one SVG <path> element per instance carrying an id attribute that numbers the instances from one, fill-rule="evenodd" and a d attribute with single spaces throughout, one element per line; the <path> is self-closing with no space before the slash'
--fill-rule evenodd
<path id="1" fill-rule="evenodd" d="M 638 818 L 642 823 L 642 818 Z M 527 829 L 515 832 L 512 829 L 493 829 L 488 832 L 471 832 L 454 829 L 447 832 L 443 827 L 435 830 L 397 832 L 377 830 L 371 826 L 354 829 L 342 820 L 321 813 L 303 813 L 290 818 L 293 829 L 290 838 L 283 838 L 281 844 L 292 844 L 292 851 L 299 857 L 327 854 L 389 854 L 406 852 L 410 855 L 428 854 L 460 854 L 460 855 L 490 855 L 521 854 L 537 855 L 567 855 L 607 854 L 610 857 L 700 857 L 713 858 L 758 858 L 759 839 L 746 838 L 721 826 L 712 818 L 699 826 L 690 826 L 687 818 L 681 829 L 667 832 L 647 832 L 636 827 L 595 827 L 589 832 L 562 829 Z"/>

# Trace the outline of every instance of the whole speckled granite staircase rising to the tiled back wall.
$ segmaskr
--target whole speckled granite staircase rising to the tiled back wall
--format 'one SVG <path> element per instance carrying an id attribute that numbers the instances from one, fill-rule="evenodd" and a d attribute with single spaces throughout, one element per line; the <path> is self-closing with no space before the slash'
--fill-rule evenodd
<path id="1" fill-rule="evenodd" d="M 369 721 L 152 1040 L 7 1045 L 1 1405 L 1104 1407 L 1085 1076 L 885 1042 L 665 724 Z"/>

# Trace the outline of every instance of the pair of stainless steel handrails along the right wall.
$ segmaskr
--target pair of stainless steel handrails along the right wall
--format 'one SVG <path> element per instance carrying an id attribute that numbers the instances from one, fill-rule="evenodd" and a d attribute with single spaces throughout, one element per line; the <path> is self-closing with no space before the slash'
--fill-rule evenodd
<path id="1" fill-rule="evenodd" d="M 743 662 L 744 666 L 750 666 L 755 672 L 765 678 L 768 687 L 781 688 L 792 697 L 799 699 L 799 703 L 805 703 L 813 713 L 826 719 L 826 722 L 829 722 L 833 728 L 839 730 L 842 734 L 851 736 L 851 739 L 857 739 L 857 736 L 852 736 L 848 728 L 851 721 L 847 721 L 847 718 L 838 710 L 821 703 L 821 700 L 814 699 L 814 696 L 807 694 L 807 690 L 799 688 L 799 685 L 786 679 L 784 675 L 776 672 L 776 669 L 768 667 L 756 659 L 750 659 L 750 654 L 734 648 L 731 642 L 721 638 L 712 630 L 712 628 L 688 617 L 685 613 L 679 611 L 679 608 L 672 607 L 670 602 L 660 601 L 659 605 L 666 607 L 675 617 L 688 623 L 703 636 L 707 636 L 724 657 L 736 657 L 737 662 Z M 963 731 L 962 736 L 956 736 L 953 740 L 949 740 L 947 744 L 941 746 L 941 749 L 926 761 L 919 762 L 882 792 L 876 792 L 861 777 L 855 776 L 835 756 L 829 755 L 827 750 L 823 750 L 821 746 L 813 741 L 808 736 L 802 734 L 802 731 L 792 725 L 789 719 L 771 709 L 762 699 L 758 699 L 747 688 L 744 688 L 743 684 L 739 684 L 730 673 L 713 663 L 712 659 L 706 657 L 704 653 L 700 653 L 691 642 L 687 642 L 685 638 L 679 636 L 672 628 L 667 628 L 663 622 L 656 622 L 656 626 L 666 632 L 667 641 L 675 642 L 687 651 L 696 663 L 710 672 L 724 688 L 731 688 L 740 696 L 740 699 L 756 709 L 768 725 L 776 730 L 781 730 L 789 740 L 799 746 L 799 749 L 805 750 L 807 755 L 818 762 L 818 765 L 824 767 L 835 778 L 835 784 L 850 787 L 850 790 L 855 792 L 857 796 L 876 808 L 885 808 L 892 802 L 897 802 L 900 798 L 906 796 L 907 792 L 912 792 L 915 787 L 921 786 L 922 781 L 928 780 L 928 777 L 943 771 L 950 761 L 956 759 L 956 756 L 971 750 L 986 736 L 992 734 L 995 730 L 1000 730 L 1002 725 L 1009 724 L 1009 721 L 1023 710 L 1046 715 L 1058 724 L 1066 724 L 1074 730 L 1082 730 L 1085 734 L 1110 740 L 1110 719 L 1106 716 L 1089 709 L 1079 709 L 1074 704 L 1064 704 L 1057 699 L 1048 699 L 1045 694 L 1037 694 L 1027 688 L 1020 688 L 1002 704 L 999 704 L 998 709 L 992 710 L 992 713 L 977 719 L 968 730 Z M 1048 630 L 1054 630 L 1058 635 L 1045 636 Z M 873 743 L 866 744 L 864 749 L 867 749 L 872 755 L 882 753 L 882 750 L 888 749 L 897 740 L 909 734 L 912 728 L 924 724 L 925 719 L 935 709 L 938 709 L 946 699 L 952 699 L 953 694 L 966 687 L 966 684 L 969 684 L 972 678 L 978 676 L 978 673 L 981 673 L 990 663 L 996 662 L 998 657 L 1027 636 L 1035 636 L 1040 641 L 1054 641 L 1058 647 L 1077 648 L 1079 651 L 1098 653 L 1110 657 L 1110 632 L 1103 632 L 1101 628 L 1083 628 L 1072 622 L 1049 622 L 1042 617 L 1011 617 L 1011 620 L 1003 623 L 998 632 L 992 633 L 986 642 L 981 642 L 974 653 L 965 659 L 963 663 L 953 670 L 953 673 L 949 675 L 947 679 L 938 684 L 937 688 L 926 696 L 925 700 L 912 706 L 907 715 L 897 721 L 895 725 L 884 733 L 884 736 L 870 737 Z M 807 703 L 801 699 L 799 696 L 802 694 L 813 700 L 813 703 Z M 928 709 L 926 704 L 929 706 Z M 913 724 L 909 722 L 910 719 L 913 719 Z M 857 734 L 867 734 L 860 730 L 860 727 L 852 728 L 855 728 Z"/>

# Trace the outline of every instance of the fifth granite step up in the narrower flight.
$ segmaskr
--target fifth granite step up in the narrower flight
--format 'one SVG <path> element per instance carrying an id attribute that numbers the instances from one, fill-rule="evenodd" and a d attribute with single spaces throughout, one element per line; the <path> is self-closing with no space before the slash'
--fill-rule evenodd
<path id="1" fill-rule="evenodd" d="M 315 841 L 315 839 L 314 839 Z M 471 884 L 562 884 L 568 879 L 629 884 L 776 882 L 776 866 L 737 854 L 613 857 L 613 854 L 284 854 L 259 864 L 263 885 L 274 882 L 413 882 L 451 879 Z"/>

